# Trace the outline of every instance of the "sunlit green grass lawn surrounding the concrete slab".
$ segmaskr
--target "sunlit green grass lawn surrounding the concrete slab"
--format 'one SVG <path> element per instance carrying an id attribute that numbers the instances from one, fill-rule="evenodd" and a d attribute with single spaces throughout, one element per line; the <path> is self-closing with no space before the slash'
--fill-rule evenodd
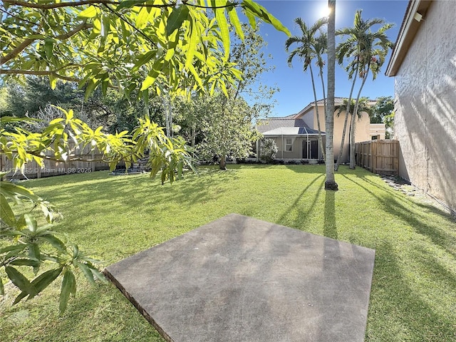
<path id="1" fill-rule="evenodd" d="M 56 204 L 57 228 L 101 268 L 230 212 L 373 248 L 366 341 L 456 341 L 456 223 L 425 199 L 380 177 L 341 167 L 338 192 L 323 190 L 324 165 L 202 167 L 172 185 L 108 172 L 31 180 Z M 58 315 L 58 284 L 11 307 L 0 299 L 0 341 L 164 341 L 113 284 L 80 276 Z M 265 341 L 267 342 L 267 341 Z"/>

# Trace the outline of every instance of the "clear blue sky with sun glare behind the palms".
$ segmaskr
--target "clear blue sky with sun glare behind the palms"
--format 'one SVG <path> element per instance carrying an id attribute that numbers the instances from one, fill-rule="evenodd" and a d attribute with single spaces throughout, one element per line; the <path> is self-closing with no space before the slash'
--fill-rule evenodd
<path id="1" fill-rule="evenodd" d="M 296 17 L 301 17 L 306 24 L 314 24 L 318 18 L 325 15 L 324 8 L 328 3 L 327 0 L 257 0 L 257 2 L 289 28 L 292 35 L 299 35 L 301 31 L 294 24 Z M 384 19 L 386 23 L 395 24 L 393 28 L 387 31 L 390 41 L 395 42 L 407 5 L 408 0 L 337 0 L 336 29 L 353 26 L 355 11 L 363 9 L 363 19 L 380 18 Z M 374 26 L 374 28 L 379 27 Z M 302 71 L 302 64 L 298 58 L 294 61 L 293 68 L 290 68 L 286 63 L 288 58 L 284 48 L 286 34 L 276 31 L 275 28 L 266 24 L 261 25 L 260 32 L 268 43 L 265 52 L 270 53 L 273 57 L 269 64 L 275 66 L 274 72 L 264 74 L 261 77 L 261 83 L 280 89 L 274 95 L 276 105 L 272 113 L 269 113 L 269 117 L 298 113 L 299 110 L 314 100 L 310 73 Z M 338 38 L 336 37 L 337 43 Z M 385 76 L 388 61 L 389 55 L 375 81 L 372 81 L 371 77 L 366 81 L 361 93 L 362 96 L 378 98 L 394 94 L 394 80 Z M 336 96 L 348 97 L 350 86 L 351 81 L 348 81 L 346 71 L 336 64 Z M 321 86 L 317 88 L 317 96 L 318 98 L 323 97 Z"/>

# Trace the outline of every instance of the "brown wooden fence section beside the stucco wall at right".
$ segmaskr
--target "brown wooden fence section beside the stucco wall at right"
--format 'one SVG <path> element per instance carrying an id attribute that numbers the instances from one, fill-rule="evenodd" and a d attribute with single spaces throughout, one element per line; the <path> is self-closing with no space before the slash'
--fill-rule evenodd
<path id="1" fill-rule="evenodd" d="M 380 175 L 398 175 L 398 140 L 356 142 L 356 165 Z"/>

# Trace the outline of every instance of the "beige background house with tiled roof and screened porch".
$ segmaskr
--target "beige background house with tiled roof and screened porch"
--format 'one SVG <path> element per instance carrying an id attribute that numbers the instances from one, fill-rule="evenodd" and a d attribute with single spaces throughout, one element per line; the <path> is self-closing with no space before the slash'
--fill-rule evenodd
<path id="1" fill-rule="evenodd" d="M 343 122 L 345 111 L 338 114 L 338 105 L 343 104 L 343 98 L 335 98 L 336 113 L 334 114 L 334 158 L 338 156 L 340 150 Z M 371 102 L 373 105 L 375 101 Z M 323 135 L 323 145 L 325 144 L 325 113 L 323 100 L 317 101 L 318 115 L 320 117 L 320 128 Z M 345 145 L 343 147 L 343 162 L 348 161 L 348 130 Z M 318 125 L 316 119 L 315 103 L 311 102 L 299 113 L 289 115 L 284 118 L 268 118 L 261 120 L 257 125 L 257 130 L 265 138 L 274 139 L 278 148 L 276 158 L 279 159 L 321 159 L 321 148 L 318 146 Z M 371 124 L 369 115 L 361 113 L 361 118 L 356 121 L 356 142 L 385 139 L 385 125 Z M 324 146 L 323 146 L 324 147 Z"/>

